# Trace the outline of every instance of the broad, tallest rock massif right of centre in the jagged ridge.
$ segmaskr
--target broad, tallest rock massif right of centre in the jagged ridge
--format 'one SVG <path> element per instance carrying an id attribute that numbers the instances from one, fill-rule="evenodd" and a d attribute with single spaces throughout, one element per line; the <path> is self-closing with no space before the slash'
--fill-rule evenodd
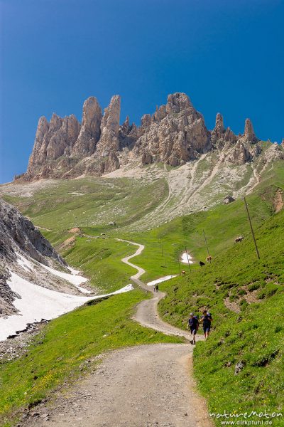
<path id="1" fill-rule="evenodd" d="M 164 162 L 173 167 L 197 159 L 211 148 L 210 134 L 202 115 L 185 93 L 168 96 L 166 105 L 144 115 L 137 130 L 133 156 L 143 164 Z"/>

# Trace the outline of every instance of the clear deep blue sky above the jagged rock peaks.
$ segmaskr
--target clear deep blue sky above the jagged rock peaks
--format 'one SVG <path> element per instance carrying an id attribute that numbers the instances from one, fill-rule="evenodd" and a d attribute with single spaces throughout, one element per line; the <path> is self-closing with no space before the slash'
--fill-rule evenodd
<path id="1" fill-rule="evenodd" d="M 0 0 L 0 182 L 24 172 L 38 118 L 119 94 L 140 122 L 185 92 L 214 127 L 284 137 L 281 0 Z"/>

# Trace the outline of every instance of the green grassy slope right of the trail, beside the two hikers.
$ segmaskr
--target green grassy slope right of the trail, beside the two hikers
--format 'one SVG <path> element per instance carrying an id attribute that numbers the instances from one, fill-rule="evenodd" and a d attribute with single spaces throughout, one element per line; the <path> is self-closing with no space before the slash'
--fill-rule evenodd
<path id="1" fill-rule="evenodd" d="M 256 239 L 261 260 L 248 234 L 212 264 L 161 285 L 167 322 L 185 327 L 189 312 L 212 312 L 212 334 L 195 349 L 195 375 L 212 413 L 283 409 L 284 211 L 258 227 Z"/>

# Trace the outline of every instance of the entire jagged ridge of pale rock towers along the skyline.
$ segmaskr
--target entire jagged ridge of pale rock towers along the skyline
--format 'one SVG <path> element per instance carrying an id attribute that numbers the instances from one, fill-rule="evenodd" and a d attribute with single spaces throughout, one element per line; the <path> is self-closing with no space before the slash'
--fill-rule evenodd
<path id="1" fill-rule="evenodd" d="M 114 95 L 102 115 L 97 99 L 89 97 L 82 125 L 74 115 L 53 114 L 50 122 L 40 117 L 28 170 L 19 179 L 100 176 L 133 160 L 178 167 L 212 149 L 222 151 L 222 159 L 232 164 L 251 162 L 261 153 L 251 120 L 246 119 L 244 134 L 237 136 L 218 113 L 210 132 L 185 93 L 168 95 L 167 103 L 153 115 L 143 115 L 138 127 L 129 117 L 119 125 L 120 102 Z"/>

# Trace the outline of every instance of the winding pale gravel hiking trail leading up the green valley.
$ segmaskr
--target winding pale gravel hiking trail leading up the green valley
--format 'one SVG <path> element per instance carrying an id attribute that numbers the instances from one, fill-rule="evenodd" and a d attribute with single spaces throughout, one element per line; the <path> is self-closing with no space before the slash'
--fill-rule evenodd
<path id="1" fill-rule="evenodd" d="M 138 271 L 131 279 L 153 292 L 139 279 L 143 268 L 129 261 L 139 255 L 144 246 L 127 243 L 138 246 L 136 253 L 122 260 Z M 158 317 L 158 301 L 164 295 L 157 292 L 151 300 L 143 300 L 133 318 L 146 327 L 189 339 L 188 332 Z M 188 343 L 148 344 L 111 352 L 85 379 L 52 402 L 38 406 L 33 416 L 20 425 L 212 427 L 206 402 L 197 393 L 192 379 L 192 349 Z"/>

